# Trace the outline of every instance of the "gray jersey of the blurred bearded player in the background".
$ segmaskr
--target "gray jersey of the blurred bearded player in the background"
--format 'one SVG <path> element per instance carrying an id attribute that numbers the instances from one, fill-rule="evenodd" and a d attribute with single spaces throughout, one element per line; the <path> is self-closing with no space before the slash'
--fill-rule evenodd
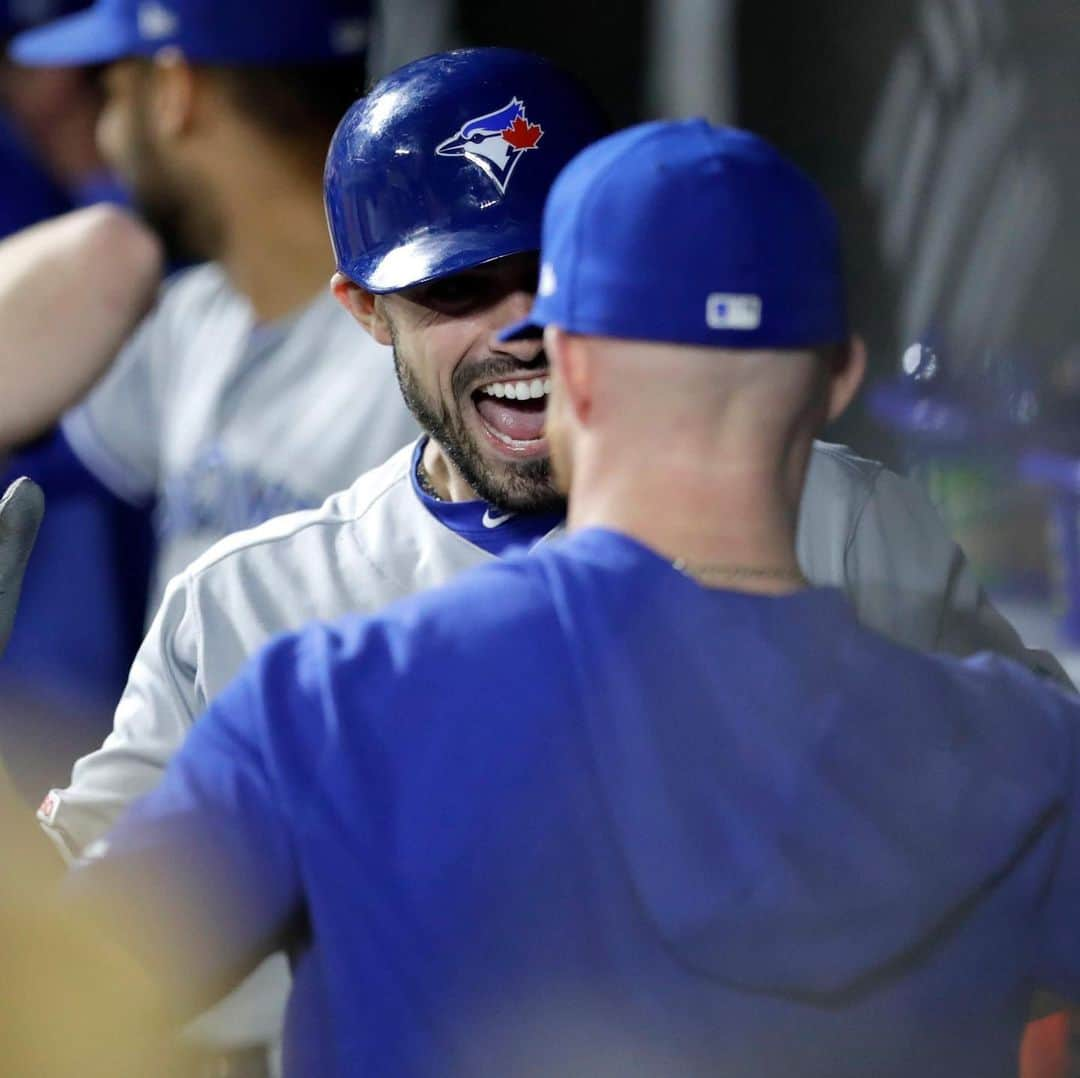
<path id="1" fill-rule="evenodd" d="M 390 350 L 328 287 L 292 318 L 257 325 L 216 264 L 164 286 L 62 429 L 119 497 L 157 499 L 151 610 L 222 536 L 316 508 L 416 435 Z"/>

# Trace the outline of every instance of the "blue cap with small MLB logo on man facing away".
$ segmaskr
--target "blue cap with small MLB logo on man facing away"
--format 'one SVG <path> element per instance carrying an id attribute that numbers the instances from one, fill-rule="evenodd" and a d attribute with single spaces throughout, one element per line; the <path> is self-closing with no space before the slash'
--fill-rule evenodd
<path id="1" fill-rule="evenodd" d="M 630 127 L 555 180 L 532 311 L 500 336 L 549 323 L 716 348 L 840 342 L 836 218 L 809 177 L 748 132 L 705 120 Z"/>

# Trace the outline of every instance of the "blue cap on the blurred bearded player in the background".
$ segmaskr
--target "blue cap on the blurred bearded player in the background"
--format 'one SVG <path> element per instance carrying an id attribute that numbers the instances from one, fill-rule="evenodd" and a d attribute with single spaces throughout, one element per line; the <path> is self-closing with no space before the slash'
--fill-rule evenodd
<path id="1" fill-rule="evenodd" d="M 203 64 L 314 64 L 362 55 L 369 16 L 369 0 L 96 0 L 18 35 L 10 54 L 27 66 L 73 67 L 174 46 Z"/>

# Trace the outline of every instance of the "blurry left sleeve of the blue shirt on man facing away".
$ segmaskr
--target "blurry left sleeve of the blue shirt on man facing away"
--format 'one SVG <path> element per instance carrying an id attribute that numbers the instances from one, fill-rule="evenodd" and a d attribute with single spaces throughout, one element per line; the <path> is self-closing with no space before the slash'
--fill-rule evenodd
<path id="1" fill-rule="evenodd" d="M 288 820 L 262 749 L 252 663 L 195 724 L 150 794 L 77 863 L 70 902 L 194 1010 L 299 926 Z"/>

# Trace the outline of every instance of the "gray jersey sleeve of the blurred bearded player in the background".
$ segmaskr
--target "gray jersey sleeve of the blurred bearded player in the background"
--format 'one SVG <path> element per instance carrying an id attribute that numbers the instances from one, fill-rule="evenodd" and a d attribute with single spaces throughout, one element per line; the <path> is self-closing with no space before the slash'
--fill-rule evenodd
<path id="1" fill-rule="evenodd" d="M 161 402 L 153 359 L 164 332 L 161 309 L 149 314 L 60 429 L 86 469 L 118 498 L 141 506 L 158 488 Z"/>

